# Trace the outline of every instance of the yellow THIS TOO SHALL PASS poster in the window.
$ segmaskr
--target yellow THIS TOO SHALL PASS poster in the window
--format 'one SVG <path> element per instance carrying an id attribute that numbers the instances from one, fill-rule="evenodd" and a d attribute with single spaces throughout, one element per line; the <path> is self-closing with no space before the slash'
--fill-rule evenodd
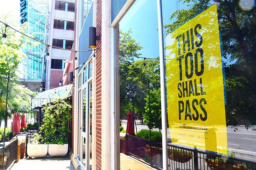
<path id="1" fill-rule="evenodd" d="M 227 129 L 216 4 L 167 35 L 166 88 L 172 142 L 225 152 Z"/>

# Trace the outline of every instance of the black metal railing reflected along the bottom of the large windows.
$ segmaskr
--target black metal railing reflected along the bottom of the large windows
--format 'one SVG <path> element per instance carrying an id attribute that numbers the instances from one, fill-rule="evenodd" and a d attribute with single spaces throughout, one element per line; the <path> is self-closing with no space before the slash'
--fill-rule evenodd
<path id="1" fill-rule="evenodd" d="M 127 154 L 148 162 L 152 167 L 163 167 L 162 144 L 147 139 L 126 135 Z M 256 170 L 256 162 L 228 157 L 224 162 L 221 155 L 188 149 L 168 144 L 168 169 L 203 170 Z"/>

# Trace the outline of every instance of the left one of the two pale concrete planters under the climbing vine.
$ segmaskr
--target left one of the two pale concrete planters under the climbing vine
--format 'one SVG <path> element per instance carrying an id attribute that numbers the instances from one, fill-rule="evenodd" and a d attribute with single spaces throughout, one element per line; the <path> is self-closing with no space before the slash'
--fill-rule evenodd
<path id="1" fill-rule="evenodd" d="M 48 144 L 28 144 L 27 153 L 29 157 L 44 157 L 48 151 Z"/>

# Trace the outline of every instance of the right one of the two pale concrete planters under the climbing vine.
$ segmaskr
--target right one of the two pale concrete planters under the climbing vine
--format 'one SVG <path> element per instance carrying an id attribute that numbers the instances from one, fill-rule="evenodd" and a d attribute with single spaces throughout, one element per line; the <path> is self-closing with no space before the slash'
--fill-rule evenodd
<path id="1" fill-rule="evenodd" d="M 50 156 L 65 156 L 68 153 L 68 144 L 49 144 L 48 153 Z"/>

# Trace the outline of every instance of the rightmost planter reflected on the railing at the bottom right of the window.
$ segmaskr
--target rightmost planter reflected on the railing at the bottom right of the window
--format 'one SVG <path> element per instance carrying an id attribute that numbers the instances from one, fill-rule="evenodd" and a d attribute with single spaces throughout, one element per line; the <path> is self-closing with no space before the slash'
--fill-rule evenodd
<path id="1" fill-rule="evenodd" d="M 212 156 L 206 156 L 204 159 L 207 163 L 207 166 L 213 170 L 236 170 L 236 169 L 247 169 L 245 164 L 236 163 L 227 160 L 223 162 L 222 159 L 215 159 Z"/>

